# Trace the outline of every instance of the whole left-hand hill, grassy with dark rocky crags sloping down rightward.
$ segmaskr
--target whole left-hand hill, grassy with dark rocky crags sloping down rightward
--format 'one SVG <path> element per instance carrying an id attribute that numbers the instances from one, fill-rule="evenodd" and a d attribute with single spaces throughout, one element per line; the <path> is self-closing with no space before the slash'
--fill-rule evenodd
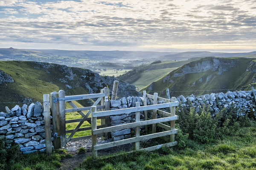
<path id="1" fill-rule="evenodd" d="M 93 71 L 43 62 L 0 61 L 0 112 L 18 102 L 43 101 L 43 94 L 64 90 L 66 95 L 99 93 L 108 85 L 113 88 L 114 77 L 99 76 Z M 141 94 L 134 85 L 119 80 L 117 96 Z M 13 103 L 12 103 L 13 102 Z M 87 105 L 88 101 L 81 100 Z"/>

